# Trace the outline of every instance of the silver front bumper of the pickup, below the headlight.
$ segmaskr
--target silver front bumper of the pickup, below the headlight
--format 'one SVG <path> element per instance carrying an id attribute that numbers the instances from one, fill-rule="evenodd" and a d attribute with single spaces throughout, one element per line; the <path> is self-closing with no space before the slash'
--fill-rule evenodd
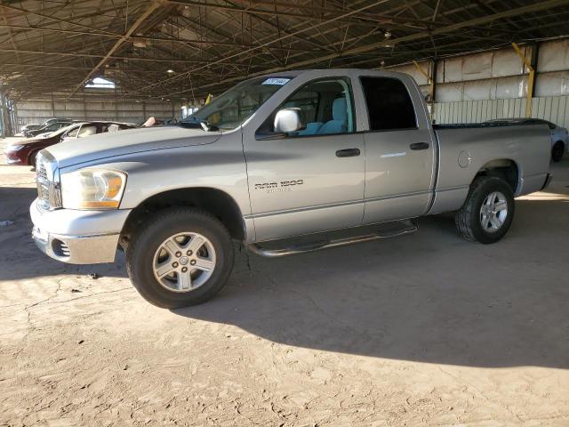
<path id="1" fill-rule="evenodd" d="M 36 246 L 54 260 L 71 264 L 114 262 L 120 231 L 130 209 L 45 211 L 37 200 L 29 208 Z"/>

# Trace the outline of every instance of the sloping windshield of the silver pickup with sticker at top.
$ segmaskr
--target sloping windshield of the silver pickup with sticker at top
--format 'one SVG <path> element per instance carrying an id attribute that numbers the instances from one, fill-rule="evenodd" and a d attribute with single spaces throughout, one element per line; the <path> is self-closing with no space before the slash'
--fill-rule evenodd
<path id="1" fill-rule="evenodd" d="M 289 77 L 259 77 L 247 80 L 221 94 L 181 123 L 204 123 L 210 130 L 235 129 L 290 80 Z"/>

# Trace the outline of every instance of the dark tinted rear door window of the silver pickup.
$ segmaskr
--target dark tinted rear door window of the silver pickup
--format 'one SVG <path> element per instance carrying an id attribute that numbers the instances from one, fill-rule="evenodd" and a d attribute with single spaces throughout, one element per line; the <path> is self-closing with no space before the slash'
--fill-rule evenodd
<path id="1" fill-rule="evenodd" d="M 371 131 L 417 127 L 413 101 L 401 80 L 361 77 Z"/>

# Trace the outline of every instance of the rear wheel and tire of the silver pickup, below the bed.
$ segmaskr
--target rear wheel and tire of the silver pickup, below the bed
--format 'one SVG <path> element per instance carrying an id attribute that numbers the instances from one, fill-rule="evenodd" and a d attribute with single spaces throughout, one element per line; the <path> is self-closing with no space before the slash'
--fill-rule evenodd
<path id="1" fill-rule="evenodd" d="M 514 194 L 508 182 L 481 176 L 470 185 L 469 195 L 454 222 L 462 238 L 492 244 L 509 230 L 514 218 Z"/>

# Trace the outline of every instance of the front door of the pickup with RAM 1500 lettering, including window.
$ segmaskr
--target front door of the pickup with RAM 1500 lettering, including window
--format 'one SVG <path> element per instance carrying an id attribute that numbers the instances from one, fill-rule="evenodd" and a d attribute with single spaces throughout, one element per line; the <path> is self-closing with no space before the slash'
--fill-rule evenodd
<path id="1" fill-rule="evenodd" d="M 276 133 L 276 111 L 301 109 L 306 128 Z M 364 215 L 364 135 L 356 133 L 349 78 L 302 86 L 254 133 L 244 155 L 256 240 L 360 225 Z"/>

